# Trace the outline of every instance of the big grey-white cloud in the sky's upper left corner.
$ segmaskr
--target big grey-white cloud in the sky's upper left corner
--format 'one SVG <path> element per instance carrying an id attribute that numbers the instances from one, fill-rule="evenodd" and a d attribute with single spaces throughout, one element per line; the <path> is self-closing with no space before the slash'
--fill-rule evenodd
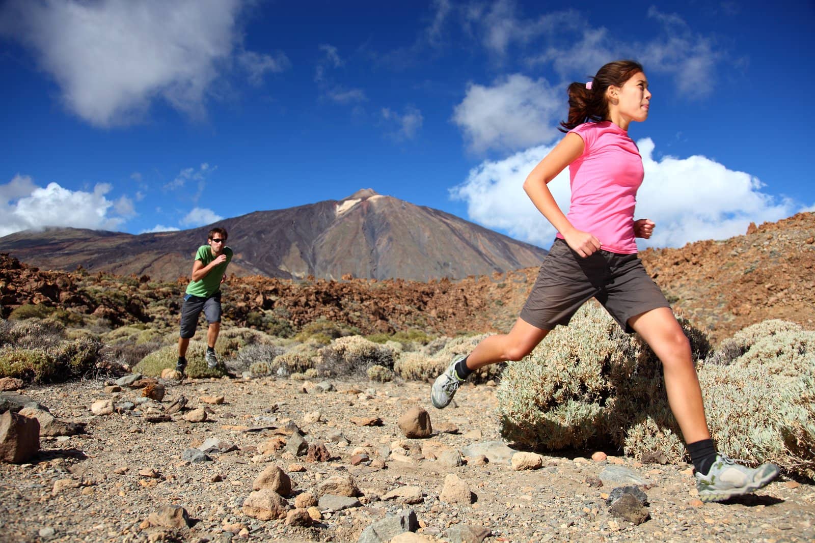
<path id="1" fill-rule="evenodd" d="M 244 4 L 10 0 L 0 11 L 0 35 L 33 50 L 68 110 L 91 125 L 138 122 L 156 99 L 200 117 L 210 85 L 233 59 L 255 81 L 288 65 L 282 53 L 242 49 Z"/>

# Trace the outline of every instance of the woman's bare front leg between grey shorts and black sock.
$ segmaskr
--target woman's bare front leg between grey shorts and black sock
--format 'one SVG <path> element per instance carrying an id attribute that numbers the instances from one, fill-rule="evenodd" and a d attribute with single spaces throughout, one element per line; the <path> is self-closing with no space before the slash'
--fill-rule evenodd
<path id="1" fill-rule="evenodd" d="M 690 355 L 690 343 L 669 308 L 651 309 L 628 319 L 663 363 L 667 401 L 685 443 L 710 439 L 702 388 Z"/>

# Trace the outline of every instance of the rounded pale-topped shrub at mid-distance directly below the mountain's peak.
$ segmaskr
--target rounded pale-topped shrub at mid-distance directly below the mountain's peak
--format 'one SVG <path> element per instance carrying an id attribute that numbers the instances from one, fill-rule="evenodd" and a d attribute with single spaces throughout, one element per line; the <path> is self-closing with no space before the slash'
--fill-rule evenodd
<path id="1" fill-rule="evenodd" d="M 394 350 L 375 344 L 359 335 L 335 339 L 332 344 L 319 349 L 316 364 L 322 375 L 361 374 L 371 366 L 394 367 Z"/>

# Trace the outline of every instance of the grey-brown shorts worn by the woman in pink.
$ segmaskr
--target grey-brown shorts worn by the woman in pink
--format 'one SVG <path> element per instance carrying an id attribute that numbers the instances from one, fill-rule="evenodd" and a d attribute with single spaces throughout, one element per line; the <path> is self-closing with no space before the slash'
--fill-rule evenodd
<path id="1" fill-rule="evenodd" d="M 562 239 L 555 239 L 521 318 L 541 330 L 566 326 L 587 300 L 596 298 L 623 330 L 628 319 L 657 308 L 670 308 L 639 257 L 597 251 L 583 258 Z"/>

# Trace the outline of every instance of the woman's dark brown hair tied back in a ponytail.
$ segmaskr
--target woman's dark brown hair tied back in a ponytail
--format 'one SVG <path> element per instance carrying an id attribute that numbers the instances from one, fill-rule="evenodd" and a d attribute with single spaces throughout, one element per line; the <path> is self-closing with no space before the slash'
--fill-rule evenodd
<path id="1" fill-rule="evenodd" d="M 641 63 L 633 60 L 615 60 L 597 70 L 592 77 L 592 88 L 575 81 L 569 85 L 569 118 L 561 122 L 561 132 L 568 132 L 584 122 L 606 120 L 609 104 L 606 102 L 606 89 L 611 85 L 621 87 L 637 73 L 642 72 Z"/>

